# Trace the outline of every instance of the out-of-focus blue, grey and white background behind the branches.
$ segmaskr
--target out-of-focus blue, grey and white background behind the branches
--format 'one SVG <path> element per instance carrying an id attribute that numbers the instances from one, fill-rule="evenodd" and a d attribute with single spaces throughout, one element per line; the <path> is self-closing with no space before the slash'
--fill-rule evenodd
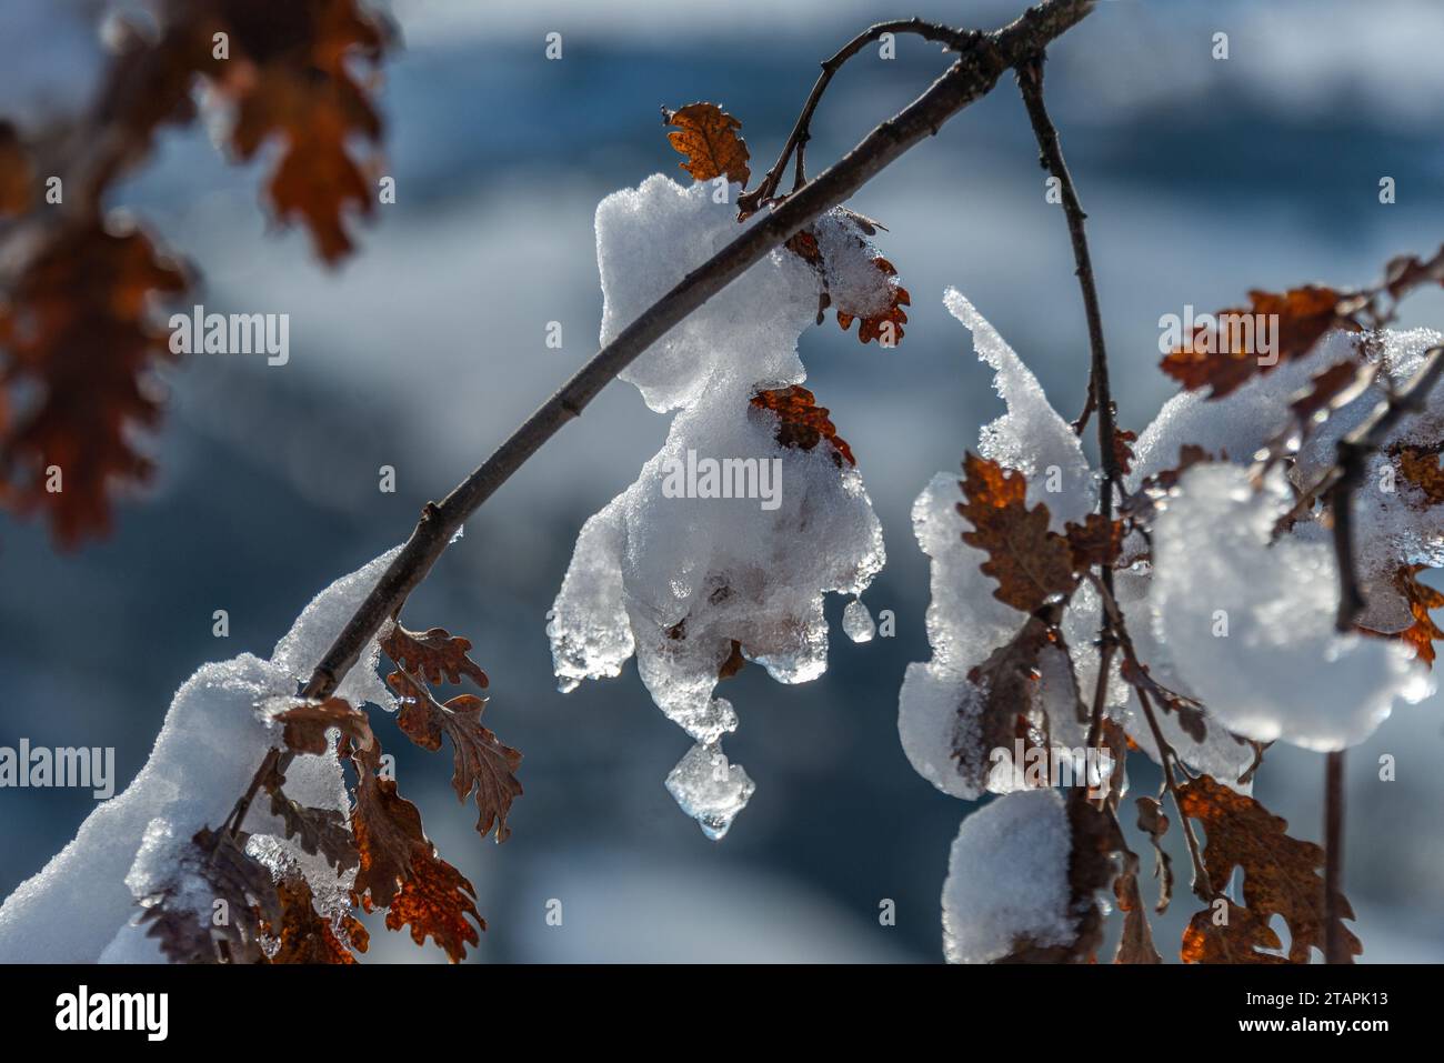
<path id="1" fill-rule="evenodd" d="M 104 62 L 97 27 L 133 6 L 0 6 L 0 114 L 27 127 L 81 107 Z M 228 165 L 201 126 L 169 131 L 116 205 L 199 266 L 208 311 L 287 312 L 290 363 L 192 358 L 170 373 L 150 441 L 157 481 L 121 507 L 111 539 L 56 555 L 42 527 L 0 521 L 0 745 L 113 745 L 123 786 L 196 666 L 269 656 L 312 595 L 403 539 L 426 500 L 595 351 L 596 202 L 658 170 L 686 176 L 658 107 L 721 103 L 760 175 L 819 61 L 871 22 L 988 29 L 1022 6 L 396 0 L 404 46 L 384 64 L 381 104 L 397 202 L 339 270 L 305 233 L 269 231 L 266 162 Z M 549 32 L 560 61 L 543 56 Z M 1217 32 L 1226 61 L 1212 58 Z M 1116 0 L 1053 49 L 1048 98 L 1089 211 L 1123 426 L 1141 430 L 1173 393 L 1160 315 L 1236 305 L 1255 286 L 1360 285 L 1392 254 L 1438 246 L 1440 40 L 1431 0 Z M 813 124 L 813 172 L 946 62 L 900 38 L 895 59 L 868 49 L 849 64 Z M 1398 183 L 1393 205 L 1379 204 L 1382 176 Z M 866 601 L 897 614 L 897 637 L 853 646 L 832 601 L 826 676 L 784 687 L 747 669 L 729 682 L 741 728 L 728 752 L 757 793 L 721 843 L 706 841 L 663 789 L 690 741 L 634 669 L 567 696 L 552 680 L 544 614 L 576 532 L 667 430 L 634 389 L 609 387 L 468 523 L 406 614 L 475 643 L 487 719 L 526 754 L 516 833 L 497 846 L 478 843 L 443 760 L 390 745 L 429 833 L 477 884 L 479 962 L 941 959 L 949 845 L 976 806 L 914 774 L 897 739 L 902 670 L 928 656 L 927 559 L 908 511 L 1001 412 L 941 292 L 962 289 L 1067 417 L 1083 404 L 1087 338 L 1011 79 L 851 207 L 890 230 L 879 246 L 913 295 L 907 338 L 879 351 L 829 321 L 801 351 L 882 520 L 888 566 Z M 549 321 L 560 351 L 544 345 Z M 1444 298 L 1417 296 L 1405 324 L 1440 326 Z M 396 494 L 378 493 L 381 465 L 396 467 Z M 1438 698 L 1406 708 L 1349 757 L 1346 887 L 1365 960 L 1444 959 L 1441 721 Z M 1398 781 L 1376 781 L 1380 752 L 1398 758 Z M 1275 747 L 1258 794 L 1317 839 L 1321 780 L 1321 757 Z M 1132 784 L 1149 791 L 1157 777 L 1141 767 Z M 78 791 L 4 791 L 0 895 L 91 807 Z M 1181 852 L 1175 864 L 1186 874 Z M 1165 958 L 1193 911 L 1186 881 L 1177 893 L 1155 921 Z M 549 898 L 563 901 L 560 927 L 544 921 Z M 879 924 L 884 898 L 895 926 Z M 374 929 L 374 959 L 443 959 Z"/>

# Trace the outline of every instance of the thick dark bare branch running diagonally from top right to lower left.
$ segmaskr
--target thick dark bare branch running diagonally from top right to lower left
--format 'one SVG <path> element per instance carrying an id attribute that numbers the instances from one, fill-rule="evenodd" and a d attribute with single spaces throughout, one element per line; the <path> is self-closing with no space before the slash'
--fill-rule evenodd
<path id="1" fill-rule="evenodd" d="M 426 504 L 400 553 L 316 664 L 302 696 L 325 698 L 336 689 L 367 643 L 426 578 L 462 523 L 562 426 L 579 417 L 586 404 L 643 351 L 774 247 L 848 199 L 918 142 L 934 136 L 957 111 L 992 91 L 1004 72 L 1037 55 L 1087 16 L 1093 6 L 1095 0 L 1044 0 L 1008 26 L 972 38 L 972 46 L 926 92 L 683 277 L 592 355 L 440 504 Z M 786 159 L 781 165 L 786 166 Z M 232 829 L 240 829 L 240 819 L 234 815 L 231 823 Z"/>

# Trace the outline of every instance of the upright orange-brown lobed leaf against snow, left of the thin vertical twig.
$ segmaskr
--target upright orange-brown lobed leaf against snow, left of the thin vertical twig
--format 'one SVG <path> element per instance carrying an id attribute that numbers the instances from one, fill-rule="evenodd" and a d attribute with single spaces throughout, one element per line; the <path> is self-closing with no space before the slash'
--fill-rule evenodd
<path id="1" fill-rule="evenodd" d="M 1027 506 L 1021 472 L 972 454 L 963 458 L 965 503 L 957 511 L 972 523 L 963 542 L 988 555 L 980 568 L 998 581 L 993 598 L 1024 612 L 1034 612 L 1054 595 L 1077 585 L 1069 540 L 1048 530 L 1048 507 Z"/>

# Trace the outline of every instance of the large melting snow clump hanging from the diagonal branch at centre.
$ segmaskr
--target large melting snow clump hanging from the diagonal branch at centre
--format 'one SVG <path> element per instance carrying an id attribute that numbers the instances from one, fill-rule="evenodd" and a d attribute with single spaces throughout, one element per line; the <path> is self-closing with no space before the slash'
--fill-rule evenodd
<path id="1" fill-rule="evenodd" d="M 604 344 L 736 237 L 731 208 L 708 192 L 654 176 L 598 207 Z M 882 568 L 856 458 L 796 387 L 816 306 L 810 267 L 774 251 L 622 374 L 651 409 L 677 413 L 637 481 L 582 527 L 547 615 L 563 690 L 635 656 L 653 700 L 709 763 L 726 764 L 719 739 L 736 728 L 718 680 L 748 661 L 783 683 L 816 679 L 823 596 L 856 596 Z M 695 770 L 700 755 L 669 789 L 719 836 L 751 781 L 728 764 L 713 786 Z"/>

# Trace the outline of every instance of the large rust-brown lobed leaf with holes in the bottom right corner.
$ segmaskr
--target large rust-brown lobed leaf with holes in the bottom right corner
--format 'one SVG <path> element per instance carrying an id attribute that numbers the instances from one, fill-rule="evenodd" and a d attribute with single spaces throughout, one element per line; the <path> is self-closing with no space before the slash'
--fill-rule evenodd
<path id="1" fill-rule="evenodd" d="M 1193 917 L 1183 939 L 1184 962 L 1209 962 L 1220 958 L 1233 963 L 1269 963 L 1279 958 L 1258 949 L 1279 947 L 1278 936 L 1268 930 L 1274 916 L 1288 924 L 1288 959 L 1307 963 L 1310 949 L 1324 949 L 1324 851 L 1313 842 L 1289 838 L 1288 823 L 1269 813 L 1252 797 L 1220 786 L 1209 776 L 1188 780 L 1178 797 L 1183 815 L 1199 820 L 1209 835 L 1203 862 L 1209 888 L 1222 895 L 1235 869 L 1243 872 L 1243 908 L 1229 906 L 1229 921 L 1217 926 L 1213 911 Z M 1341 919 L 1353 919 L 1353 908 L 1339 898 Z M 1350 956 L 1363 946 L 1340 926 Z M 1266 933 L 1265 933 L 1266 932 Z M 1271 939 L 1271 940 L 1269 940 Z"/>

